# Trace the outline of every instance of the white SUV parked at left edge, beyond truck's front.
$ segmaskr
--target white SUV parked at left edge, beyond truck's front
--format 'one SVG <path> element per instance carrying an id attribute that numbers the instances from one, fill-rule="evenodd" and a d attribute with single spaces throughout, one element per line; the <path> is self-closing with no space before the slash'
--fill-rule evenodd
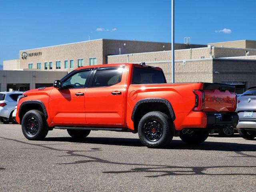
<path id="1" fill-rule="evenodd" d="M 0 92 L 0 121 L 4 124 L 9 122 L 17 123 L 12 117 L 15 106 L 17 105 L 18 96 L 24 92 Z"/>

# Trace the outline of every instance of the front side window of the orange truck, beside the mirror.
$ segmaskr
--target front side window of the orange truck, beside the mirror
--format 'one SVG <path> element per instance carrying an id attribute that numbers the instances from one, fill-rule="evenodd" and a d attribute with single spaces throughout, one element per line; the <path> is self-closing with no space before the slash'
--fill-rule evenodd
<path id="1" fill-rule="evenodd" d="M 67 80 L 62 82 L 62 88 L 64 88 L 64 89 L 83 88 L 85 86 L 85 83 L 86 83 L 89 73 L 90 73 L 90 70 L 80 71 L 80 72 L 72 75 Z"/>

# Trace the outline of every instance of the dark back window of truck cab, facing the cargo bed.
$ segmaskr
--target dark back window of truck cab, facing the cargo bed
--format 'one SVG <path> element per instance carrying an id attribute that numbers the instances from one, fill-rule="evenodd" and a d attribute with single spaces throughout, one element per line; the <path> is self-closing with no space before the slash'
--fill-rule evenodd
<path id="1" fill-rule="evenodd" d="M 166 83 L 160 70 L 134 67 L 132 84 Z"/>

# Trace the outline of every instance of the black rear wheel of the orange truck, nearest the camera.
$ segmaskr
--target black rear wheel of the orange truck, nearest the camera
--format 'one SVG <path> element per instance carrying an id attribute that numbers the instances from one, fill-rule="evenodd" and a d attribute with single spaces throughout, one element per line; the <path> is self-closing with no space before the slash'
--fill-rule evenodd
<path id="1" fill-rule="evenodd" d="M 148 148 L 166 146 L 174 135 L 169 116 L 158 111 L 145 114 L 138 124 L 138 135 L 142 144 Z"/>

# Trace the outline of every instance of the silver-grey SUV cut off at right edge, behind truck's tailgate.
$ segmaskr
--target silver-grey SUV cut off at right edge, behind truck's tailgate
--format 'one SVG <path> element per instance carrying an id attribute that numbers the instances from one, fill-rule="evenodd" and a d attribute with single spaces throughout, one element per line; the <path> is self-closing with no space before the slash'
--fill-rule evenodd
<path id="1" fill-rule="evenodd" d="M 256 86 L 248 88 L 238 98 L 236 112 L 239 116 L 236 126 L 239 135 L 245 139 L 254 139 L 256 137 Z"/>

